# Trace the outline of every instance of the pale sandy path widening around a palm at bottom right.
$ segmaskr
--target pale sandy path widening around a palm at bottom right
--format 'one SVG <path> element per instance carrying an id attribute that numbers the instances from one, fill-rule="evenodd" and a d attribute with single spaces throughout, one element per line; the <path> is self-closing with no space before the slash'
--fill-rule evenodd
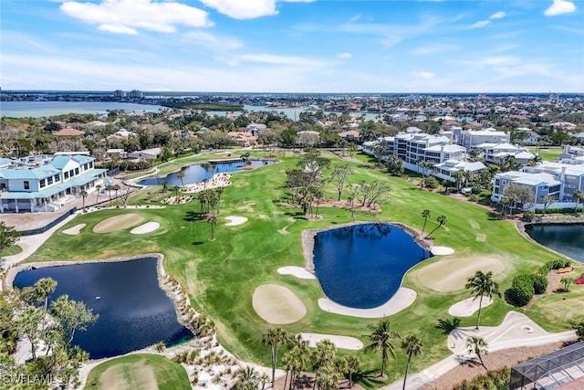
<path id="1" fill-rule="evenodd" d="M 469 355 L 466 349 L 466 338 L 471 336 L 484 338 L 488 344 L 488 351 L 492 353 L 508 348 L 573 341 L 576 339 L 576 332 L 549 333 L 541 329 L 536 322 L 531 321 L 525 314 L 509 311 L 505 320 L 499 326 L 482 326 L 479 331 L 475 331 L 474 327 L 460 328 L 451 332 L 446 343 L 453 354 L 426 368 L 421 373 L 410 375 L 406 389 L 418 389 L 422 385 L 446 374 L 461 362 L 472 358 L 473 356 Z M 400 379 L 391 385 L 383 387 L 383 390 L 401 390 L 402 385 L 403 379 Z"/>

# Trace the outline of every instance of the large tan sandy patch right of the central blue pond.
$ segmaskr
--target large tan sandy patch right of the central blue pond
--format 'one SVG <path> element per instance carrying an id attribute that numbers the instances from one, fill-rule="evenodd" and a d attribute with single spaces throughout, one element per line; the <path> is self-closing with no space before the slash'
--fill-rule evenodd
<path id="1" fill-rule="evenodd" d="M 478 270 L 501 274 L 505 265 L 498 258 L 443 258 L 414 272 L 418 283 L 440 292 L 464 289 L 468 278 Z"/>

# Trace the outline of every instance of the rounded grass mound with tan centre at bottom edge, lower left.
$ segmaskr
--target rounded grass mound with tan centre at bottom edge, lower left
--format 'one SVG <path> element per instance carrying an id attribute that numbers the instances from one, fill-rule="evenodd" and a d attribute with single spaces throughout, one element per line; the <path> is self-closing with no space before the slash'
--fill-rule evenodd
<path id="1" fill-rule="evenodd" d="M 151 385 L 155 383 L 154 386 Z M 89 373 L 86 390 L 190 389 L 189 376 L 181 364 L 156 354 L 130 354 L 97 365 Z"/>

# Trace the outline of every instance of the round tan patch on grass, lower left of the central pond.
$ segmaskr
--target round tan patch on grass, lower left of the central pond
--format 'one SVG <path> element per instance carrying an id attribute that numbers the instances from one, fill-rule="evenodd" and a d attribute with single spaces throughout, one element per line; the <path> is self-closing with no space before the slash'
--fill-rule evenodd
<path id="1" fill-rule="evenodd" d="M 257 315 L 276 325 L 296 322 L 307 313 L 304 303 L 292 290 L 277 284 L 264 284 L 256 288 L 252 304 Z"/>

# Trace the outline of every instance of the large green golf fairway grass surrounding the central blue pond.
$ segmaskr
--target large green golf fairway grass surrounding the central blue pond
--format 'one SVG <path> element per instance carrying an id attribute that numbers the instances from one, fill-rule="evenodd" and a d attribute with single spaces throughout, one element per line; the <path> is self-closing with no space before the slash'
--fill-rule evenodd
<path id="1" fill-rule="evenodd" d="M 357 154 L 356 156 L 359 156 Z M 344 163 L 331 156 L 333 165 Z M 208 157 L 207 157 L 208 158 Z M 308 221 L 301 218 L 300 209 L 286 202 L 287 169 L 296 166 L 294 153 L 281 156 L 281 163 L 264 166 L 232 176 L 232 185 L 225 187 L 221 201 L 221 214 L 214 228 L 215 240 L 209 241 L 211 227 L 194 218 L 199 210 L 196 200 L 183 206 L 162 209 L 132 209 L 146 221 L 157 221 L 161 228 L 146 235 L 131 235 L 130 229 L 109 234 L 94 234 L 92 227 L 102 219 L 129 211 L 102 210 L 78 216 L 67 227 L 79 223 L 88 226 L 78 236 L 57 232 L 30 258 L 30 261 L 50 259 L 112 258 L 148 252 L 164 254 L 167 272 L 176 276 L 188 290 L 193 307 L 210 315 L 217 325 L 221 343 L 245 361 L 269 365 L 269 348 L 261 343 L 262 332 L 269 324 L 261 320 L 252 307 L 255 288 L 264 283 L 277 283 L 293 290 L 304 301 L 307 315 L 296 323 L 284 326 L 288 332 L 321 332 L 343 334 L 360 338 L 367 343 L 367 325 L 374 320 L 363 320 L 321 311 L 317 300 L 323 297 L 316 280 L 296 279 L 279 275 L 279 267 L 304 266 L 300 234 L 307 228 L 330 227 L 350 221 L 349 210 L 320 207 L 322 218 Z M 558 255 L 534 245 L 507 220 L 498 219 L 490 210 L 463 202 L 451 196 L 420 191 L 415 183 L 390 177 L 377 168 L 362 163 L 352 163 L 355 174 L 350 182 L 384 181 L 391 185 L 389 201 L 381 205 L 381 213 L 357 212 L 360 221 L 398 221 L 411 227 L 422 228 L 422 210 L 432 211 L 426 231 L 436 227 L 436 217 L 448 217 L 448 223 L 433 234 L 435 245 L 454 248 L 457 256 L 496 256 L 505 261 L 506 273 L 498 278 L 501 290 L 510 287 L 511 279 L 519 270 L 533 270 Z M 142 190 L 132 199 L 143 203 L 147 192 Z M 325 195 L 335 197 L 332 184 L 325 187 Z M 346 197 L 344 195 L 343 197 Z M 224 216 L 245 216 L 244 225 L 225 227 Z M 440 257 L 427 260 L 440 261 Z M 417 265 L 414 269 L 423 267 Z M 472 275 L 469 275 L 471 277 Z M 438 319 L 449 319 L 448 308 L 469 297 L 466 290 L 438 293 L 413 282 L 411 273 L 403 280 L 405 287 L 418 292 L 413 305 L 392 315 L 391 325 L 405 336 L 415 333 L 423 343 L 422 355 L 412 361 L 412 373 L 447 356 L 445 336 L 435 328 Z M 576 299 L 584 299 L 584 288 L 574 287 Z M 528 311 L 548 331 L 568 328 L 569 316 L 558 317 L 549 309 L 546 299 L 536 302 Z M 555 307 L 560 307 L 557 302 Z M 551 304 L 554 307 L 554 304 Z M 503 300 L 482 312 L 482 324 L 496 325 L 507 311 L 516 310 Z M 522 311 L 522 310 L 518 310 Z M 524 312 L 524 311 L 522 311 Z M 464 318 L 463 325 L 474 324 L 474 317 Z M 399 343 L 398 343 L 399 345 Z M 342 352 L 348 353 L 348 352 Z M 352 353 L 352 352 L 351 352 Z M 280 354 L 281 355 L 281 354 Z M 357 352 L 366 372 L 375 374 L 381 357 L 374 353 Z M 401 377 L 406 356 L 398 348 L 397 359 L 390 364 L 388 381 Z M 375 386 L 370 379 L 361 384 Z"/>

